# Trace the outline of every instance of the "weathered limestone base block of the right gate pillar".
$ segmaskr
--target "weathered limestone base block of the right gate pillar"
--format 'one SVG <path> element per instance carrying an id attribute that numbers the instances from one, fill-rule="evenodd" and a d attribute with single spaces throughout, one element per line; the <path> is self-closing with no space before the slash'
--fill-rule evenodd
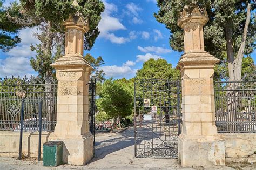
<path id="1" fill-rule="evenodd" d="M 225 165 L 225 144 L 219 136 L 178 137 L 178 157 L 181 166 Z"/>

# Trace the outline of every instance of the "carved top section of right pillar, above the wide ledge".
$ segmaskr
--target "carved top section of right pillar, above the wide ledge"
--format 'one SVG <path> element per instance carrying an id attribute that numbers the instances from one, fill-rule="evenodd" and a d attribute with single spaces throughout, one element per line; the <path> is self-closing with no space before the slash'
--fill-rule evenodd
<path id="1" fill-rule="evenodd" d="M 184 29 L 184 51 L 204 51 L 203 26 L 209 18 L 206 9 L 196 7 L 193 10 L 186 8 L 180 13 L 178 26 Z"/>

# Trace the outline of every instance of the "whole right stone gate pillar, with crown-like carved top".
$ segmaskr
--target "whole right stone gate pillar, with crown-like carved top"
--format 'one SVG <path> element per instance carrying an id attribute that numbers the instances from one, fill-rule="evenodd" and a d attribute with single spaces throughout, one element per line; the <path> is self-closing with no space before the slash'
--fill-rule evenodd
<path id="1" fill-rule="evenodd" d="M 182 133 L 178 138 L 182 166 L 225 165 L 224 142 L 217 135 L 213 76 L 219 59 L 204 51 L 205 9 L 184 9 L 178 26 L 184 29 L 184 51 L 178 69 L 182 81 Z"/>

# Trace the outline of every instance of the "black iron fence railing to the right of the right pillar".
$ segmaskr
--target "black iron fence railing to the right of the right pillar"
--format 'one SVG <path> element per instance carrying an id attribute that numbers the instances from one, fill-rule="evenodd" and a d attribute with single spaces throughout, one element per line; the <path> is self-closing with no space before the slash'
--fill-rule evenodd
<path id="1" fill-rule="evenodd" d="M 219 133 L 256 133 L 256 80 L 215 81 L 216 126 Z"/>

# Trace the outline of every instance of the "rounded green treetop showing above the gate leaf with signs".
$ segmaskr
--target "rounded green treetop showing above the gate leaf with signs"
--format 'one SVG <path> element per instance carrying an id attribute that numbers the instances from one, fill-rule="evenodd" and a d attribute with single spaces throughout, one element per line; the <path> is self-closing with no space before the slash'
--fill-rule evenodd
<path id="1" fill-rule="evenodd" d="M 172 64 L 165 59 L 149 59 L 142 69 L 136 73 L 139 79 L 178 79 L 179 70 L 172 68 Z"/>

